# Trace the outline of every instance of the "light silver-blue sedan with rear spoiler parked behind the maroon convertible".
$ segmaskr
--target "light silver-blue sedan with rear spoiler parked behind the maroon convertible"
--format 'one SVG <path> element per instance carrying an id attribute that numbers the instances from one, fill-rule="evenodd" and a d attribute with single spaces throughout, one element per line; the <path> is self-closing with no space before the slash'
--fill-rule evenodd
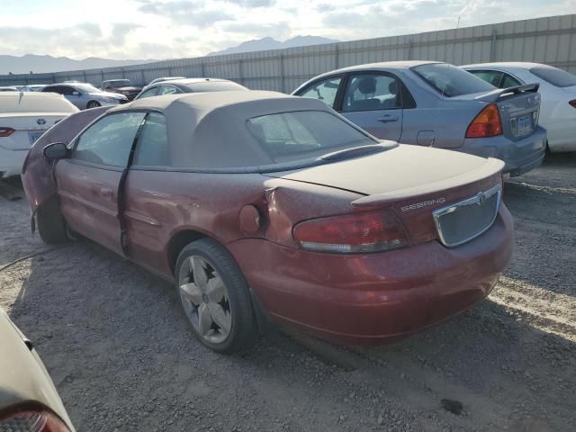
<path id="1" fill-rule="evenodd" d="M 497 157 L 520 175 L 545 157 L 537 90 L 498 89 L 446 63 L 393 61 L 316 76 L 293 94 L 328 103 L 377 138 Z"/>

